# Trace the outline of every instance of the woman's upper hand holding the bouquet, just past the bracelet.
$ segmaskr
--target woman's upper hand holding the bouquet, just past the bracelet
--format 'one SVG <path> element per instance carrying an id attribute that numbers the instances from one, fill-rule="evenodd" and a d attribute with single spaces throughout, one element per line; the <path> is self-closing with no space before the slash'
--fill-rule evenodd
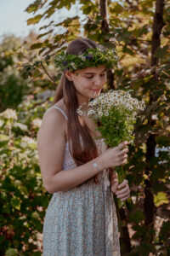
<path id="1" fill-rule="evenodd" d="M 127 142 L 122 142 L 117 147 L 106 149 L 105 152 L 99 155 L 104 169 L 122 166 L 126 163 L 128 153 L 127 144 Z"/>

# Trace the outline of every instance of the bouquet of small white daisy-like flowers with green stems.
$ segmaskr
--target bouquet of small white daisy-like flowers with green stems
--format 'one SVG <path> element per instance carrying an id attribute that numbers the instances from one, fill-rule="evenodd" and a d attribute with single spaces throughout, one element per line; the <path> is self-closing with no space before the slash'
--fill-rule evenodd
<path id="1" fill-rule="evenodd" d="M 97 130 L 101 137 L 105 138 L 108 147 L 114 148 L 123 141 L 133 143 L 137 111 L 144 110 L 144 102 L 133 98 L 129 91 L 109 90 L 88 104 L 83 103 L 77 109 L 78 114 L 88 115 L 94 119 L 94 122 L 99 122 Z M 119 183 L 122 183 L 124 179 L 122 166 L 116 167 L 116 172 Z"/>

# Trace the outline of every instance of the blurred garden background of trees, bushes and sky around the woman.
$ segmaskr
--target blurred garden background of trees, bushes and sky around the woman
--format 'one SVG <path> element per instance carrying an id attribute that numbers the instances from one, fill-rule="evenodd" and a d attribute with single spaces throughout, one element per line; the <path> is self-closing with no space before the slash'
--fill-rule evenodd
<path id="1" fill-rule="evenodd" d="M 61 73 L 54 55 L 77 37 L 116 48 L 106 89 L 144 100 L 117 209 L 122 255 L 170 255 L 170 1 L 0 1 L 0 255 L 42 255 L 51 195 L 42 186 L 37 131 Z"/>

